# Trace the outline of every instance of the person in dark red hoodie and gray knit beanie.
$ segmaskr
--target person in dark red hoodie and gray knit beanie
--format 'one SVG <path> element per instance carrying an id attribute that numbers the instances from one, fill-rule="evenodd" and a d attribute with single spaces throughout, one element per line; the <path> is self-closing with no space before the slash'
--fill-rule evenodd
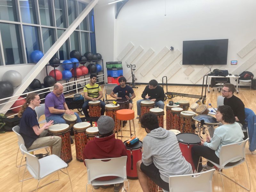
<path id="1" fill-rule="evenodd" d="M 109 116 L 100 116 L 98 122 L 99 136 L 89 141 L 83 150 L 83 159 L 101 159 L 109 157 L 127 156 L 124 143 L 115 138 L 113 132 L 115 122 Z M 85 162 L 84 165 L 86 166 Z M 115 176 L 100 177 L 97 180 L 112 180 Z M 93 186 L 94 189 L 108 188 L 108 186 Z M 118 192 L 123 187 L 123 183 L 114 185 L 114 192 Z"/>

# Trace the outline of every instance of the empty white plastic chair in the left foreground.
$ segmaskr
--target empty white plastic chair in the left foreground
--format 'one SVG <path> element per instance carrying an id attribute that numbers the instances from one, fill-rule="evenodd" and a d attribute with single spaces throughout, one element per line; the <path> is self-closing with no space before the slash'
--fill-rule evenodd
<path id="1" fill-rule="evenodd" d="M 67 170 L 68 164 L 66 164 L 60 157 L 58 157 L 56 155 L 50 155 L 50 156 L 46 156 L 42 159 L 37 159 L 36 156 L 28 153 L 25 145 L 23 145 L 23 144 L 20 145 L 20 150 L 24 154 L 26 154 L 26 157 L 27 157 L 26 169 L 32 175 L 32 177 L 34 177 L 35 179 L 38 180 L 35 191 L 37 191 L 38 188 L 42 188 L 46 185 L 49 185 L 50 183 L 58 181 L 60 179 L 58 171 L 61 169 L 64 169 L 64 168 L 66 169 L 67 173 L 65 173 L 65 172 L 63 172 L 63 173 L 68 175 L 70 186 L 71 186 L 71 191 L 73 191 L 71 180 L 70 180 L 68 170 Z M 24 170 L 24 173 L 23 173 L 23 180 L 24 180 L 24 175 L 25 175 L 26 169 Z M 57 180 L 53 180 L 41 187 L 38 187 L 41 179 L 43 179 L 44 177 L 46 177 L 54 172 L 58 172 Z M 22 187 L 23 187 L 23 180 L 22 180 L 22 184 L 21 184 L 21 192 L 22 192 Z"/>

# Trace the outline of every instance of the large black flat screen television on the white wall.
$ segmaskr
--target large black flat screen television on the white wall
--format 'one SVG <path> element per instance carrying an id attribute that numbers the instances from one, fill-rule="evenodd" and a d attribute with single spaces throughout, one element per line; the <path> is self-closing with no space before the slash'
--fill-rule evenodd
<path id="1" fill-rule="evenodd" d="M 183 41 L 182 65 L 227 65 L 228 39 Z"/>

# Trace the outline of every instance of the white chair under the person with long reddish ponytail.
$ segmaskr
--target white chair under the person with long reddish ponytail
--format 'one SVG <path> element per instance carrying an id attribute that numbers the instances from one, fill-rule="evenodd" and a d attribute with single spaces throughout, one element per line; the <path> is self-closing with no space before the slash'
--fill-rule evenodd
<path id="1" fill-rule="evenodd" d="M 12 131 L 15 132 L 16 135 L 17 135 L 17 137 L 18 137 L 18 146 L 19 146 L 19 148 L 18 148 L 17 156 L 16 156 L 16 167 L 19 167 L 18 180 L 19 180 L 19 182 L 20 182 L 20 181 L 22 181 L 22 180 L 20 180 L 20 167 L 25 165 L 25 164 L 24 164 L 24 165 L 21 165 L 22 159 L 23 159 L 23 157 L 24 157 L 24 153 L 22 153 L 22 151 L 20 151 L 21 154 L 22 154 L 22 158 L 21 158 L 21 160 L 20 160 L 20 165 L 19 165 L 19 166 L 17 166 L 17 160 L 18 160 L 18 153 L 19 153 L 19 150 L 20 150 L 20 145 L 23 144 L 24 147 L 25 147 L 25 142 L 24 142 L 22 136 L 20 135 L 20 127 L 19 127 L 18 125 L 16 125 L 15 127 L 12 127 Z M 49 151 L 48 147 L 49 147 L 49 146 L 47 146 L 47 147 L 41 147 L 41 148 L 36 148 L 36 149 L 31 149 L 31 150 L 27 150 L 27 148 L 26 148 L 26 150 L 28 151 L 28 153 L 30 153 L 30 152 L 32 152 L 32 151 L 36 151 L 36 150 L 45 148 L 47 154 L 50 154 L 50 151 Z M 31 179 L 31 178 L 28 178 L 28 179 Z M 28 180 L 28 179 L 25 179 L 25 180 Z"/>

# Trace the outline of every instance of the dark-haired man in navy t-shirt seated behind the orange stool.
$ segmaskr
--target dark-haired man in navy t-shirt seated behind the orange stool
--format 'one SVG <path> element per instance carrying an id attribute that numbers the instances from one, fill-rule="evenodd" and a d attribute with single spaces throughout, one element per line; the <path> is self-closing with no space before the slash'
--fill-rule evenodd
<path id="1" fill-rule="evenodd" d="M 113 91 L 110 93 L 110 96 L 115 99 L 122 99 L 122 98 L 128 99 L 129 100 L 128 109 L 132 109 L 132 99 L 136 97 L 132 87 L 130 87 L 129 85 L 126 85 L 126 79 L 123 76 L 118 79 L 118 82 L 120 85 L 117 85 L 113 89 Z M 114 95 L 115 93 L 117 93 L 118 95 L 115 96 Z M 130 93 L 132 94 L 132 97 L 130 97 Z"/>

